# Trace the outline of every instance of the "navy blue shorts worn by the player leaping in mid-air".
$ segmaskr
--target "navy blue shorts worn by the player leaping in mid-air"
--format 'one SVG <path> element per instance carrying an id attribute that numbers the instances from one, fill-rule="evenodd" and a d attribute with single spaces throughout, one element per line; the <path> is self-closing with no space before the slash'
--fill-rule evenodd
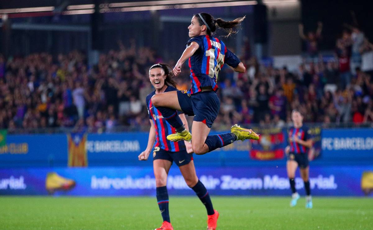
<path id="1" fill-rule="evenodd" d="M 194 116 L 196 122 L 203 122 L 211 128 L 220 109 L 220 100 L 214 91 L 198 92 L 188 95 L 177 91 L 181 110 L 188 116 Z"/>

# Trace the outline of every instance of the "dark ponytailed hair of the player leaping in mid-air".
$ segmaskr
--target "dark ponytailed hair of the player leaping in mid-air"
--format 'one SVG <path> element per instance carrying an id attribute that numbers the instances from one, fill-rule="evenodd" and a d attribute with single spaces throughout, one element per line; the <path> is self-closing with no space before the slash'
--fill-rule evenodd
<path id="1" fill-rule="evenodd" d="M 221 18 L 214 19 L 213 16 L 210 15 L 210 14 L 208 14 L 208 13 L 200 13 L 200 14 L 197 13 L 196 15 L 194 15 L 194 17 L 197 18 L 198 23 L 200 24 L 200 26 L 206 25 L 203 22 L 203 20 L 201 19 L 200 15 L 203 17 L 203 20 L 208 25 L 207 27 L 210 27 L 210 29 L 211 29 L 210 30 L 209 28 L 207 28 L 207 34 L 208 35 L 211 35 L 211 33 L 215 32 L 216 31 L 216 27 L 219 26 L 220 28 L 222 28 L 226 32 L 228 32 L 228 34 L 225 37 L 229 37 L 231 34 L 237 34 L 238 31 L 235 28 L 246 17 L 246 16 L 243 16 L 242 18 L 236 18 L 233 21 L 224 21 Z"/>

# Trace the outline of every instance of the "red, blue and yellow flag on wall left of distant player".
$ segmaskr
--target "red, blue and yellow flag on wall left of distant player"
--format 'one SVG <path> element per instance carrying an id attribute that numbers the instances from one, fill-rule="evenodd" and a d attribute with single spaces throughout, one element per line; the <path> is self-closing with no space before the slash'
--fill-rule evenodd
<path id="1" fill-rule="evenodd" d="M 262 129 L 259 141 L 252 141 L 250 158 L 279 160 L 284 157 L 285 136 L 281 129 Z"/>

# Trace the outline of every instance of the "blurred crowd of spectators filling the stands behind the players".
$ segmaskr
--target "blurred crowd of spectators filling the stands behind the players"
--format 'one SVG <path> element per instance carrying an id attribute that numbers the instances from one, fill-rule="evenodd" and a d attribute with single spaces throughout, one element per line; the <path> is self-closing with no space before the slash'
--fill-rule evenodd
<path id="1" fill-rule="evenodd" d="M 92 67 L 78 51 L 55 59 L 47 53 L 8 60 L 0 55 L 0 128 L 85 126 L 89 132 L 112 132 L 117 126 L 144 125 L 145 97 L 153 90 L 148 68 L 164 60 L 151 48 L 119 45 L 100 54 Z M 241 60 L 247 71 L 238 74 L 224 66 L 219 74 L 221 108 L 213 128 L 235 123 L 282 127 L 291 122 L 294 108 L 305 122 L 372 122 L 372 50 L 364 34 L 353 28 L 336 41 L 335 58 L 317 54 L 316 61 L 289 72 L 261 64 L 244 47 Z M 179 89 L 188 89 L 188 75 L 185 66 L 176 79 Z"/>

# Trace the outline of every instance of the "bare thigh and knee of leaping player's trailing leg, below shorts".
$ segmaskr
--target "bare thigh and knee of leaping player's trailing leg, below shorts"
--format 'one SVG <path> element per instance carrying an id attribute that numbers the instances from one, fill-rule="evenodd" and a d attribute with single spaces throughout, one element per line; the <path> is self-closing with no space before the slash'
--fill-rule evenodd
<path id="1" fill-rule="evenodd" d="M 210 128 L 203 122 L 193 121 L 192 125 L 192 149 L 195 154 L 202 155 L 209 152 L 209 146 L 205 144 L 210 133 Z"/>

